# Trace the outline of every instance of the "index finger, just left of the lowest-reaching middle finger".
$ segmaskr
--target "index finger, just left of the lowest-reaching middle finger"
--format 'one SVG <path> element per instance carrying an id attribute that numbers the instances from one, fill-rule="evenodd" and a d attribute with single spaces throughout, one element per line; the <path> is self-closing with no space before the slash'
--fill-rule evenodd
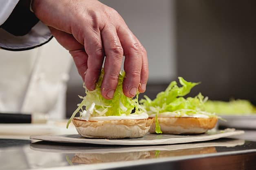
<path id="1" fill-rule="evenodd" d="M 99 30 L 87 33 L 84 39 L 84 48 L 88 54 L 88 70 L 86 71 L 84 83 L 88 90 L 94 90 L 104 61 L 104 52 Z"/>

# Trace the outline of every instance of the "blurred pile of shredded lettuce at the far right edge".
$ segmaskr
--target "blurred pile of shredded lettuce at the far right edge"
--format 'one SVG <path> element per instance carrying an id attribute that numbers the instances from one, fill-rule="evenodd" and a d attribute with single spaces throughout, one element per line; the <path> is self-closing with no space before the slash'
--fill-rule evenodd
<path id="1" fill-rule="evenodd" d="M 230 100 L 229 102 L 208 100 L 205 110 L 219 115 L 245 115 L 256 113 L 256 107 L 248 100 Z"/>

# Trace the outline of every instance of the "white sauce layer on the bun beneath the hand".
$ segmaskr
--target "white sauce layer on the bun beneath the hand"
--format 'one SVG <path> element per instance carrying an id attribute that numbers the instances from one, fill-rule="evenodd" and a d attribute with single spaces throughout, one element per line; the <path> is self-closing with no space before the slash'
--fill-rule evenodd
<path id="1" fill-rule="evenodd" d="M 93 121 L 103 121 L 103 120 L 136 120 L 136 119 L 147 119 L 147 113 L 141 114 L 130 114 L 129 116 L 98 116 L 98 117 L 90 117 L 89 120 Z M 83 117 L 80 119 L 85 120 Z"/>

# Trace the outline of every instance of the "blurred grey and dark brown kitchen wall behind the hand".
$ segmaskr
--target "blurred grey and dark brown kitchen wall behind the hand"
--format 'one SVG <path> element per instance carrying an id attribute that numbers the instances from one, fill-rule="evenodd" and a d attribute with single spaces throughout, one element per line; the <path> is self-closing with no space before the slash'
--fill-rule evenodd
<path id="1" fill-rule="evenodd" d="M 153 99 L 183 76 L 201 84 L 211 100 L 250 100 L 256 105 L 255 0 L 101 0 L 116 9 L 148 52 L 149 79 L 144 94 Z M 66 116 L 83 95 L 73 64 Z M 140 94 L 140 98 L 144 94 Z"/>

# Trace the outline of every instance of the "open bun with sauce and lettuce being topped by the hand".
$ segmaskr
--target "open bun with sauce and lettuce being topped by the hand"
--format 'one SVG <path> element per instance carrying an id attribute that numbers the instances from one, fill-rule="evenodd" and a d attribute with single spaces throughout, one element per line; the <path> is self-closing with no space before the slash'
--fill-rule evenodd
<path id="1" fill-rule="evenodd" d="M 152 118 L 148 118 L 145 109 L 139 105 L 138 92 L 135 98 L 124 95 L 122 85 L 125 72 L 120 72 L 117 89 L 110 100 L 103 98 L 101 83 L 104 70 L 96 83 L 93 91 L 85 88 L 86 96 L 72 114 L 67 123 L 67 128 L 72 121 L 77 132 L 90 138 L 133 138 L 143 137 L 148 133 Z M 132 113 L 133 112 L 133 113 Z M 79 117 L 75 117 L 79 113 Z"/>

